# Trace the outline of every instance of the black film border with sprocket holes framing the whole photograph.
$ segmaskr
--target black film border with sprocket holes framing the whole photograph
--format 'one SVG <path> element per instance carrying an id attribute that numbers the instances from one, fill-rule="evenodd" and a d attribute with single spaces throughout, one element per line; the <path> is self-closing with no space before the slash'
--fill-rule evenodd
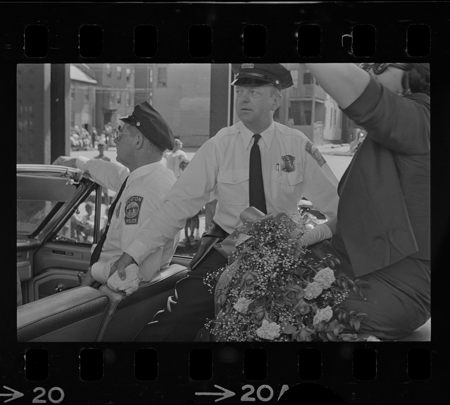
<path id="1" fill-rule="evenodd" d="M 16 64 L 25 62 L 229 63 L 303 58 L 444 62 L 449 50 L 448 5 L 440 2 L 237 7 L 15 3 L 0 5 L 0 9 L 0 72 L 7 79 L 5 94 L 15 94 Z M 420 38 L 412 49 L 415 35 Z M 149 36 L 156 43 L 147 44 Z M 189 37 L 196 38 L 197 44 L 190 44 L 195 41 Z M 367 37 L 375 39 L 375 45 L 372 40 L 365 42 Z M 444 74 L 444 63 L 434 64 L 435 72 Z M 12 117 L 14 128 L 14 97 L 11 99 L 4 98 L 1 105 L 5 116 Z M 445 113 L 446 104 L 436 103 L 433 108 L 439 116 Z M 7 119 L 7 128 L 9 122 Z M 439 124 L 436 127 L 444 129 Z M 447 209 L 444 204 L 441 208 Z M 439 274 L 433 279 L 434 293 L 437 278 Z M 13 294 L 9 301 L 14 303 Z M 433 311 L 445 308 L 441 304 L 445 304 L 442 295 L 433 294 Z M 15 313 L 3 313 L 2 324 L 14 323 L 14 317 Z M 441 401 L 448 398 L 448 348 L 440 338 L 444 333 L 442 322 L 436 319 L 432 342 L 261 348 L 254 344 L 17 344 L 15 331 L 5 331 L 0 400 L 281 402 L 317 394 L 348 402 Z M 15 393 L 19 391 L 22 398 Z M 233 395 L 227 396 L 228 391 Z"/>

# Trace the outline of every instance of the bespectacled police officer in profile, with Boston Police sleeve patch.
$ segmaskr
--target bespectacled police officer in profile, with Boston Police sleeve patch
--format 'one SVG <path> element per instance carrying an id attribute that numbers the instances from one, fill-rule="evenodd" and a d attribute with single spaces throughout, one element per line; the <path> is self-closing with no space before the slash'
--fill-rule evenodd
<path id="1" fill-rule="evenodd" d="M 119 191 L 126 180 L 115 204 L 100 256 L 89 268 L 82 283 L 84 286 L 107 281 L 113 274 L 111 265 L 127 249 L 146 219 L 161 207 L 176 181 L 173 171 L 161 164 L 163 152 L 175 145 L 172 131 L 162 116 L 149 103 L 143 102 L 136 105 L 130 115 L 119 119 L 124 125 L 114 139 L 116 159 L 125 167 L 84 156 L 61 156 L 54 162 L 86 171 L 97 183 L 114 191 Z M 175 232 L 139 261 L 139 274 L 144 281 L 151 280 L 161 268 L 170 264 L 179 239 L 180 232 Z"/>

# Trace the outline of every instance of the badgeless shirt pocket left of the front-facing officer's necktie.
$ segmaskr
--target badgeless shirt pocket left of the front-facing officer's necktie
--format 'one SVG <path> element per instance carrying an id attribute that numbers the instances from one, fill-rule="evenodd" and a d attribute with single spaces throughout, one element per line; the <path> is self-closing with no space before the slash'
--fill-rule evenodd
<path id="1" fill-rule="evenodd" d="M 222 170 L 217 174 L 217 193 L 227 206 L 244 207 L 249 203 L 249 170 Z"/>

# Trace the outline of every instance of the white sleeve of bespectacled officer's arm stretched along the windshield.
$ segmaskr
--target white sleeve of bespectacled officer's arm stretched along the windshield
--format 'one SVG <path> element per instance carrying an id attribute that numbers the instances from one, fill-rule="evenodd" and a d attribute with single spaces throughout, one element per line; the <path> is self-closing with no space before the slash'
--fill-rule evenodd
<path id="1" fill-rule="evenodd" d="M 76 158 L 76 167 L 88 172 L 96 183 L 113 191 L 120 190 L 122 183 L 130 171 L 126 167 L 120 167 L 103 159 L 89 159 L 85 156 Z"/>

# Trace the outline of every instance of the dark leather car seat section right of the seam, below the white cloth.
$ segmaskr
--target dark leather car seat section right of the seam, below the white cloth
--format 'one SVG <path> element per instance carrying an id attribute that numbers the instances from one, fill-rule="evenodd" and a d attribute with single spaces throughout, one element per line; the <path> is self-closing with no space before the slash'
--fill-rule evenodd
<path id="1" fill-rule="evenodd" d="M 106 283 L 102 285 L 99 291 L 108 296 L 109 304 L 95 341 L 131 342 L 153 315 L 166 306 L 167 299 L 174 295 L 176 282 L 187 272 L 185 266 L 172 264 L 151 281 L 141 282 L 139 289 L 129 296 L 111 290 Z"/>

